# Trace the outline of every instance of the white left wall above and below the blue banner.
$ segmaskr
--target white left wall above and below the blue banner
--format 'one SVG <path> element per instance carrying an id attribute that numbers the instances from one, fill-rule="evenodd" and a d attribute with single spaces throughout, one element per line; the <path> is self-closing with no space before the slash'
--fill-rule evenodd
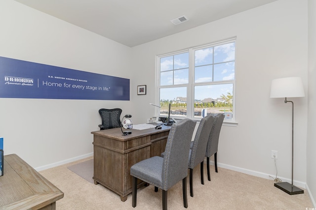
<path id="1" fill-rule="evenodd" d="M 0 1 L 0 26 L 1 57 L 131 76 L 131 48 L 14 0 Z M 16 153 L 41 169 L 92 155 L 90 132 L 99 129 L 100 108 L 131 112 L 130 101 L 0 98 L 0 104 L 4 154 Z"/>

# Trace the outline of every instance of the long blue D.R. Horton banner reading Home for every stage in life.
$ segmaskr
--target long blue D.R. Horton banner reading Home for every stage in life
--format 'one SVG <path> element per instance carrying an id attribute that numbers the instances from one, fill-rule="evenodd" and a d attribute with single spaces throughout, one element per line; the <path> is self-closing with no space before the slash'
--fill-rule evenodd
<path id="1" fill-rule="evenodd" d="M 0 97 L 129 100 L 129 79 L 0 57 Z"/>

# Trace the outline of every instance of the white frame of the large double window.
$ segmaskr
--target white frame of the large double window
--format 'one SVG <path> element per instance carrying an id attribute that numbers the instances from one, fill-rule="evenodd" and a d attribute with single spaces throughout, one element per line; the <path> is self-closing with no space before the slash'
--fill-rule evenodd
<path id="1" fill-rule="evenodd" d="M 195 51 L 208 48 L 208 47 L 214 47 L 222 44 L 227 44 L 235 42 L 235 77 L 234 80 L 225 80 L 225 81 L 214 81 L 214 82 L 205 82 L 205 83 L 195 83 L 194 77 L 195 77 Z M 155 103 L 160 104 L 159 101 L 159 90 L 160 88 L 176 88 L 176 87 L 187 87 L 187 116 L 186 117 L 176 117 L 176 119 L 181 120 L 185 118 L 189 118 L 192 120 L 201 120 L 199 118 L 194 117 L 194 87 L 195 86 L 203 86 L 203 85 L 216 85 L 216 84 L 233 84 L 234 91 L 233 91 L 233 119 L 232 120 L 224 120 L 224 125 L 229 126 L 237 126 L 236 121 L 236 69 L 237 69 L 237 61 L 236 61 L 236 48 L 237 48 L 237 38 L 232 37 L 229 39 L 196 46 L 192 48 L 188 48 L 185 50 L 180 50 L 172 53 L 167 53 L 163 55 L 156 56 L 156 90 L 155 90 Z M 185 52 L 189 52 L 189 83 L 188 84 L 181 84 L 181 85 L 167 85 L 167 86 L 160 86 L 160 58 L 168 57 L 172 55 L 182 54 Z M 180 95 L 179 95 L 180 96 Z M 190 101 L 190 103 L 188 103 Z M 157 108 L 155 110 L 155 116 L 159 116 L 159 109 Z"/>

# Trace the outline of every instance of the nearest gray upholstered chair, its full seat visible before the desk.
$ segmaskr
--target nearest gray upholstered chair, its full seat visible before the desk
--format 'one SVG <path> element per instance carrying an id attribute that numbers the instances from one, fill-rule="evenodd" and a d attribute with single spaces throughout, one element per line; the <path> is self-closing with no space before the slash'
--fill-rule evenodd
<path id="1" fill-rule="evenodd" d="M 171 126 L 164 157 L 154 156 L 130 168 L 132 179 L 132 206 L 136 207 L 137 179 L 162 189 L 162 209 L 167 210 L 167 190 L 182 180 L 183 205 L 188 208 L 187 176 L 190 142 L 196 122 L 184 119 Z"/>

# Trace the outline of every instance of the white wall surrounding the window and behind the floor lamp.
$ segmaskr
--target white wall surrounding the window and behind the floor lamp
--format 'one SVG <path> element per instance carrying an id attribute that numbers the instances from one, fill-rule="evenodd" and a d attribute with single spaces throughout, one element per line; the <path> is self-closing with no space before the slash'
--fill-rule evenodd
<path id="1" fill-rule="evenodd" d="M 185 24 L 185 23 L 184 23 Z M 137 96 L 154 115 L 155 56 L 237 36 L 237 127 L 223 126 L 218 162 L 221 167 L 269 179 L 276 176 L 271 150 L 278 151 L 278 177 L 291 179 L 291 104 L 270 98 L 271 81 L 302 77 L 307 93 L 307 0 L 278 0 L 192 30 L 133 47 L 132 80 L 147 85 L 146 96 Z M 146 78 L 146 79 L 144 79 Z M 179 95 L 181 96 L 181 95 Z M 289 100 L 289 99 L 288 99 Z M 294 180 L 306 183 L 307 97 L 295 103 Z M 148 117 L 139 115 L 138 120 Z M 272 179 L 271 179 L 272 180 Z M 273 181 L 272 181 L 273 184 Z"/>

